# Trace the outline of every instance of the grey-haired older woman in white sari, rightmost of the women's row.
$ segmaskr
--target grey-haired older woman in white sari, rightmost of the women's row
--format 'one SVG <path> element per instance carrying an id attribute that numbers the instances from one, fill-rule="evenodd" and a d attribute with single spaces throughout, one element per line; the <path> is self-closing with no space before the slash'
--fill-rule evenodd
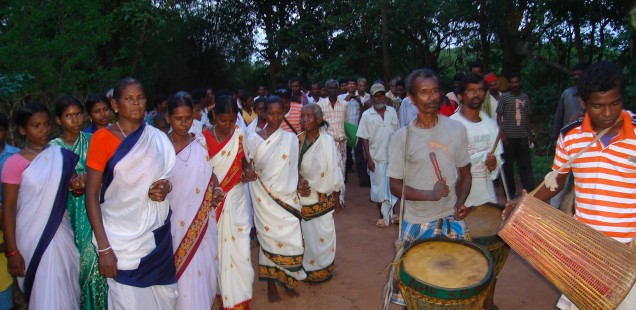
<path id="1" fill-rule="evenodd" d="M 333 215 L 340 209 L 339 189 L 344 185 L 338 168 L 340 153 L 333 137 L 320 127 L 327 125 L 317 104 L 308 104 L 301 113 L 303 132 L 298 135 L 300 156 L 298 193 L 302 204 L 301 222 L 305 255 L 303 268 L 309 282 L 331 279 L 336 257 L 336 226 Z"/>

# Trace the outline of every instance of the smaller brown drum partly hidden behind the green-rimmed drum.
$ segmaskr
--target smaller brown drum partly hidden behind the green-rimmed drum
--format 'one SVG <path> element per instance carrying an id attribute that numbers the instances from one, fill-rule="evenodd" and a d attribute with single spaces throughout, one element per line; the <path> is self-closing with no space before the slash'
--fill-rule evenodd
<path id="1" fill-rule="evenodd" d="M 487 203 L 474 207 L 464 218 L 471 241 L 485 247 L 490 252 L 495 264 L 495 277 L 503 269 L 510 253 L 510 247 L 497 235 L 502 222 L 501 212 L 503 209 L 503 206 Z"/>

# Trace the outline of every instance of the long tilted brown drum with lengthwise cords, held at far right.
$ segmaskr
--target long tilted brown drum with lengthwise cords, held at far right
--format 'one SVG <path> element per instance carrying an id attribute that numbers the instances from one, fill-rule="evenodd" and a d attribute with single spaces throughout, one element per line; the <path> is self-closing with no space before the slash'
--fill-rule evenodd
<path id="1" fill-rule="evenodd" d="M 636 249 L 530 195 L 499 236 L 579 309 L 615 309 L 636 281 Z"/>

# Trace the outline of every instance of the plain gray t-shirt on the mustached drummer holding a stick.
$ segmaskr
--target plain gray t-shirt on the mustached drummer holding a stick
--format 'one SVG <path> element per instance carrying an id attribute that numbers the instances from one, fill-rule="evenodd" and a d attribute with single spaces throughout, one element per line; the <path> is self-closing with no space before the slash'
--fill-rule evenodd
<path id="1" fill-rule="evenodd" d="M 417 128 L 411 122 L 394 133 L 391 139 L 387 173 L 390 178 L 404 180 L 407 186 L 414 189 L 432 190 L 437 177 L 429 153 L 435 152 L 442 176 L 450 188 L 448 196 L 439 201 L 406 200 L 404 219 L 409 223 L 424 224 L 452 215 L 457 201 L 455 194 L 457 168 L 470 163 L 464 126 L 445 116 L 438 115 L 438 119 L 435 127 L 430 129 Z M 407 131 L 408 143 L 405 143 Z M 406 170 L 404 169 L 405 149 L 407 150 Z"/>

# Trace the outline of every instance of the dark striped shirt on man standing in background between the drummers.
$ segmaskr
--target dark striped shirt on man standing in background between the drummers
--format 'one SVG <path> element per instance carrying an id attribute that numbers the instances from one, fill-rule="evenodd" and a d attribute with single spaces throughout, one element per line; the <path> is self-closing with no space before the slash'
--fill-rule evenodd
<path id="1" fill-rule="evenodd" d="M 501 132 L 506 138 L 527 138 L 526 121 L 532 113 L 530 98 L 526 94 L 515 96 L 510 92 L 499 98 L 497 114 L 503 114 Z"/>

